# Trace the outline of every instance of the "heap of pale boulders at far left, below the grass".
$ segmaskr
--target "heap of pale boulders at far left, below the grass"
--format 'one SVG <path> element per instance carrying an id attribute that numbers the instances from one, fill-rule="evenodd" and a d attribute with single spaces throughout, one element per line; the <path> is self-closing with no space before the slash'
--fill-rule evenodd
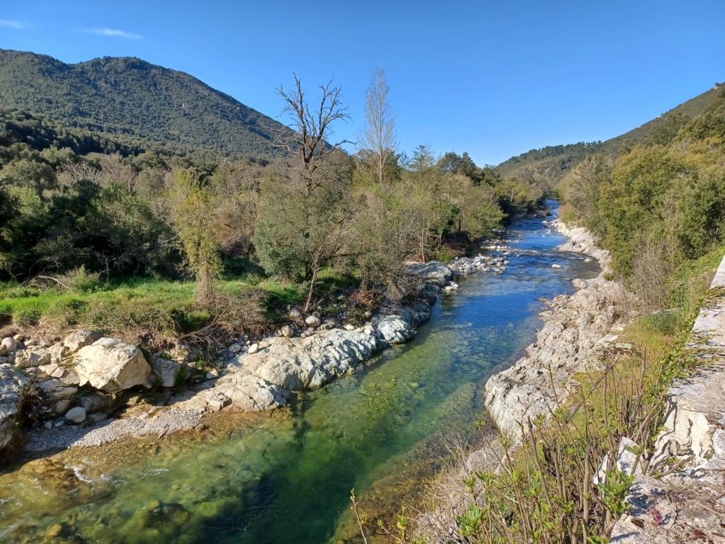
<path id="1" fill-rule="evenodd" d="M 22 334 L 0 341 L 0 451 L 17 435 L 25 416 L 46 429 L 107 419 L 122 392 L 133 387 L 171 387 L 180 370 L 174 360 L 146 355 L 135 345 L 80 329 L 51 343 Z"/>

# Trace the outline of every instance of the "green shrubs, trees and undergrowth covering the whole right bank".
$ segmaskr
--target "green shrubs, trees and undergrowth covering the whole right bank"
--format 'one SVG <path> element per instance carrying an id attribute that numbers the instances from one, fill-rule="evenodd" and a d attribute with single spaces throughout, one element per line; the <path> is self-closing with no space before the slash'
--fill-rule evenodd
<path id="1" fill-rule="evenodd" d="M 586 147 L 559 176 L 563 218 L 596 236 L 607 265 L 610 259 L 605 280 L 636 297 L 614 308 L 639 317 L 602 339 L 604 350 L 589 352 L 577 341 L 575 350 L 586 348 L 581 353 L 593 364 L 565 377 L 576 387 L 560 389 L 556 360 L 539 368 L 553 396 L 538 414 L 526 416 L 531 405 L 523 400 L 520 417 L 499 439 L 486 432 L 476 448 L 453 440 L 450 469 L 431 485 L 428 502 L 409 506 L 392 527 L 370 523 L 364 498 L 353 496 L 363 534 L 405 543 L 608 542 L 629 508 L 634 474 L 647 469 L 655 451 L 668 387 L 700 364 L 685 349 L 697 310 L 703 299 L 721 296 L 708 292 L 725 253 L 725 89 L 717 87 L 688 103 L 685 111 L 697 102 L 695 115 L 681 108 L 630 133 L 636 143 L 621 137 L 617 147 Z M 546 168 L 531 168 L 529 176 Z M 556 301 L 552 307 L 560 311 Z M 529 353 L 554 345 L 537 342 Z M 566 347 L 555 349 L 563 354 Z M 679 466 L 650 470 L 667 474 Z M 653 508 L 634 521 L 662 524 L 663 516 Z M 697 530 L 690 536 L 708 536 Z"/>

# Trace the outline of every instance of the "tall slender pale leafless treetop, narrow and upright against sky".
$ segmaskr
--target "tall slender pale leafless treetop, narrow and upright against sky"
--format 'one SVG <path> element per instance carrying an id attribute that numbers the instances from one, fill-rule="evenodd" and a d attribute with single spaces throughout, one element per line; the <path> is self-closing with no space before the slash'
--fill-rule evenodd
<path id="1" fill-rule="evenodd" d="M 390 87 L 381 68 L 373 73 L 365 93 L 365 131 L 363 145 L 370 152 L 373 171 L 379 184 L 385 181 L 385 165 L 395 152 L 395 114 L 390 107 Z"/>

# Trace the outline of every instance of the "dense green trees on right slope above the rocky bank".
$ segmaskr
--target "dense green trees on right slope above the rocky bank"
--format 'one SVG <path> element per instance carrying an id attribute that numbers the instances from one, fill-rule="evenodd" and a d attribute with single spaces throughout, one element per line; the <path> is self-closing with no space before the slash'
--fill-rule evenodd
<path id="1" fill-rule="evenodd" d="M 589 154 L 563 191 L 612 252 L 616 273 L 649 308 L 668 305 L 676 267 L 725 242 L 725 91 L 616 157 Z"/>

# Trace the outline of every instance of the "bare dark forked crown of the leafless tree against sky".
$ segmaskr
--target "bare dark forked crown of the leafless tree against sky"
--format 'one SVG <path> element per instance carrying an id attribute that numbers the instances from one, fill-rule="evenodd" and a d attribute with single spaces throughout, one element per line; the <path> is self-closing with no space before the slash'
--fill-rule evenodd
<path id="1" fill-rule="evenodd" d="M 341 106 L 341 88 L 332 86 L 332 80 L 320 85 L 322 98 L 316 110 L 310 108 L 305 100 L 305 91 L 302 90 L 302 81 L 294 75 L 294 89 L 285 91 L 282 86 L 277 88 L 277 94 L 287 103 L 284 112 L 292 118 L 291 128 L 296 133 L 297 148 L 286 147 L 292 154 L 297 154 L 302 160 L 302 168 L 315 173 L 318 161 L 326 154 L 334 152 L 341 144 L 352 144 L 349 140 L 342 140 L 330 144 L 327 139 L 332 136 L 331 124 L 336 120 L 347 120 L 347 108 Z"/>

